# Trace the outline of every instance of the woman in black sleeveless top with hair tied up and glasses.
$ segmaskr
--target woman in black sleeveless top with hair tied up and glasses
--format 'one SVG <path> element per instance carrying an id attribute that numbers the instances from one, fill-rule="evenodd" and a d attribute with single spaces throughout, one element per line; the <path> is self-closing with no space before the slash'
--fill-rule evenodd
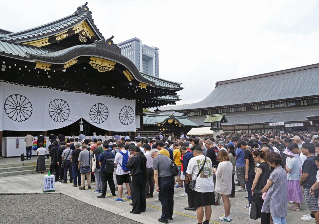
<path id="1" fill-rule="evenodd" d="M 259 163 L 259 166 L 257 167 L 257 170 L 256 170 L 255 179 L 253 181 L 251 191 L 256 201 L 257 210 L 260 213 L 261 223 L 269 224 L 270 214 L 261 212 L 261 209 L 263 207 L 263 199 L 262 199 L 261 190 L 267 184 L 267 180 L 271 174 L 270 164 L 268 163 L 266 159 L 266 153 L 264 151 L 255 151 L 253 153 L 253 159 L 256 163 Z M 249 191 L 250 189 L 247 189 L 247 190 Z"/>

